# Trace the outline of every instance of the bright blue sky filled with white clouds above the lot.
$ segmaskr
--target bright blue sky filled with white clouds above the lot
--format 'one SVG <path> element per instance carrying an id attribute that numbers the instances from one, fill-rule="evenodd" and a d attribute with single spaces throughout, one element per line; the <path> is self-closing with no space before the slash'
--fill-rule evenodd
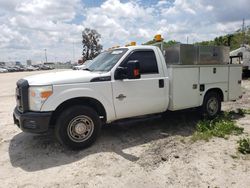
<path id="1" fill-rule="evenodd" d="M 82 31 L 101 34 L 104 49 L 162 34 L 189 43 L 250 25 L 250 0 L 0 0 L 0 62 L 77 61 Z"/>

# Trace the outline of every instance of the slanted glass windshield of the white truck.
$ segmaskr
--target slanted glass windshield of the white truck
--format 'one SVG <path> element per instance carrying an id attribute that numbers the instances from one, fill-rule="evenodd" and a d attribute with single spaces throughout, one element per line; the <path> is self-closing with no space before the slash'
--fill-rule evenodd
<path id="1" fill-rule="evenodd" d="M 88 70 L 110 71 L 127 50 L 127 48 L 119 48 L 102 52 L 91 61 L 91 64 L 88 66 Z"/>

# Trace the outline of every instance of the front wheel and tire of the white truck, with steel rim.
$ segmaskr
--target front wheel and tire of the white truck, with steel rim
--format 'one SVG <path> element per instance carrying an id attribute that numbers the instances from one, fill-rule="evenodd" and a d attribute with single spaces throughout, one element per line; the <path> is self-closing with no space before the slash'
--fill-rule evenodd
<path id="1" fill-rule="evenodd" d="M 56 123 L 58 141 L 73 150 L 89 147 L 101 130 L 101 121 L 95 110 L 87 106 L 72 106 L 64 110 Z"/>

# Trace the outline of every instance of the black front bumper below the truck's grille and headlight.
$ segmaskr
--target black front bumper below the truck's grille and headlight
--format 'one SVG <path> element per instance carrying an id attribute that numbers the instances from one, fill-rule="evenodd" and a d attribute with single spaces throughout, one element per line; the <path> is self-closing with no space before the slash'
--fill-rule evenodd
<path id="1" fill-rule="evenodd" d="M 24 132 L 44 133 L 49 129 L 52 112 L 24 112 L 14 109 L 14 123 Z"/>

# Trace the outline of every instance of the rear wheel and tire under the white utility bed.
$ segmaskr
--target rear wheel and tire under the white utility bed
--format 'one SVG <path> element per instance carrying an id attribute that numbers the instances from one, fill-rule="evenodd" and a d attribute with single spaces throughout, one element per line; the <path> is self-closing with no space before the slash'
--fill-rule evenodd
<path id="1" fill-rule="evenodd" d="M 214 119 L 221 111 L 221 98 L 217 92 L 209 92 L 205 95 L 201 107 L 202 116 Z"/>

